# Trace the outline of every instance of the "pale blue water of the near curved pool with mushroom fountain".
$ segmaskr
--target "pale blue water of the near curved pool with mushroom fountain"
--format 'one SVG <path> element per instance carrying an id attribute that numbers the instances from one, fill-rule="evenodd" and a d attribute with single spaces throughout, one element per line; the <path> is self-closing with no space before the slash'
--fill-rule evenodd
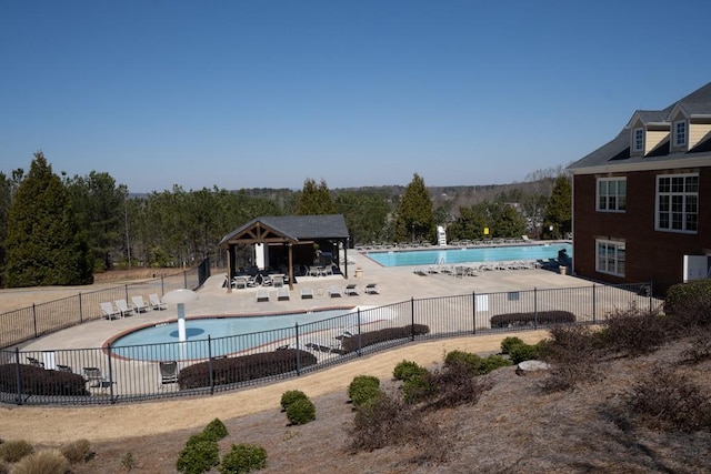
<path id="1" fill-rule="evenodd" d="M 326 310 L 308 313 L 278 314 L 269 316 L 204 317 L 186 320 L 187 342 L 178 340 L 178 323 L 157 324 L 127 334 L 116 340 L 111 350 L 126 359 L 139 361 L 180 361 L 207 359 L 246 351 L 254 346 L 278 342 L 293 334 L 296 324 L 303 325 L 352 313 L 353 310 Z M 346 323 L 344 323 L 346 325 Z M 274 331 L 274 330 L 290 330 Z M 274 331 L 259 337 L 232 337 L 229 344 L 211 340 Z"/>

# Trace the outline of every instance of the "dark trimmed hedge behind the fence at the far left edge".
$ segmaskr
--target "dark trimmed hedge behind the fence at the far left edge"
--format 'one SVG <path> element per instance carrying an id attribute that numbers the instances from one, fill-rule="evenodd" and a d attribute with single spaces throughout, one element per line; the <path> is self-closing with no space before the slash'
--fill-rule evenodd
<path id="1" fill-rule="evenodd" d="M 20 364 L 20 386 L 24 395 L 89 396 L 87 381 L 79 374 L 48 371 Z M 0 365 L 0 392 L 18 393 L 17 364 Z"/>

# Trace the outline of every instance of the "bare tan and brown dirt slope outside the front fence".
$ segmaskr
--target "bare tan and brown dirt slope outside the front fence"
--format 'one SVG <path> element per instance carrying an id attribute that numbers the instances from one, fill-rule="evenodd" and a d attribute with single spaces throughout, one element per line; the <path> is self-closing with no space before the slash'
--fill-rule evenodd
<path id="1" fill-rule="evenodd" d="M 0 292 L 2 302 L 6 295 Z M 534 342 L 547 333 L 515 335 Z M 356 375 L 375 375 L 387 390 L 395 391 L 391 379 L 398 362 L 409 360 L 431 367 L 454 349 L 497 352 L 502 337 L 405 345 L 299 379 L 218 396 L 99 407 L 2 406 L 0 438 L 22 438 L 38 447 L 87 438 L 96 456 L 72 466 L 77 474 L 176 472 L 176 460 L 188 437 L 216 417 L 230 433 L 220 442 L 220 453 L 232 444 L 259 444 L 268 453 L 264 473 L 711 472 L 710 433 L 640 427 L 630 422 L 623 402 L 634 381 L 655 364 L 679 367 L 711 389 L 711 363 L 691 366 L 680 362 L 684 342 L 644 357 L 608 361 L 599 369 L 599 377 L 569 392 L 543 393 L 540 382 L 545 374 L 520 376 L 513 367 L 502 369 L 487 375 L 491 389 L 475 405 L 422 414 L 435 433 L 433 444 L 423 441 L 369 453 L 349 450 L 353 412 L 346 390 Z M 279 407 L 287 390 L 301 390 L 312 399 L 316 421 L 288 424 Z M 428 458 L 431 452 L 444 454 Z"/>

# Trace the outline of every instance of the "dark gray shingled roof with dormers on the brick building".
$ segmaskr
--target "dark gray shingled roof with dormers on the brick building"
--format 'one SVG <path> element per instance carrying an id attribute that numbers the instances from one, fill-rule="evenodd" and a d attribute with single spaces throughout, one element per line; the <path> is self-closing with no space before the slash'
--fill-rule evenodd
<path id="1" fill-rule="evenodd" d="M 672 103 L 664 110 L 638 110 L 635 113 L 640 115 L 645 123 L 662 123 L 670 122 L 669 114 L 674 105 L 679 104 L 685 113 L 691 118 L 711 117 L 711 82 L 695 90 L 678 102 Z M 620 133 L 610 142 L 603 144 L 592 153 L 581 158 L 573 164 L 569 165 L 569 170 L 581 170 L 585 168 L 597 167 L 613 167 L 615 164 L 634 164 L 634 163 L 651 163 L 654 161 L 669 161 L 673 159 L 689 158 L 690 154 L 708 152 L 711 148 L 711 139 L 699 143 L 694 149 L 684 153 L 672 153 L 669 151 L 663 153 L 663 148 L 658 147 L 652 153 L 645 157 L 630 157 L 630 129 L 625 127 Z M 669 148 L 667 147 L 667 150 Z"/>

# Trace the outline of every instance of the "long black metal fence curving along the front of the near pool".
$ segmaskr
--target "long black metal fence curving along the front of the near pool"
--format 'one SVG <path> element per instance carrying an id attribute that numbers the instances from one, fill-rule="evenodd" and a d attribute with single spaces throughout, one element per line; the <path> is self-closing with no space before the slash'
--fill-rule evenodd
<path id="1" fill-rule="evenodd" d="M 655 310 L 661 303 L 652 296 L 649 283 L 621 286 L 591 284 L 411 299 L 372 309 L 343 310 L 338 315 L 298 313 L 292 315 L 294 323 L 289 327 L 221 337 L 188 337 L 183 342 L 72 350 L 4 350 L 0 351 L 0 402 L 79 405 L 213 394 L 298 376 L 414 340 L 531 330 L 571 321 L 563 316 L 574 317 L 577 323 L 601 323 L 614 311 L 631 306 Z M 505 325 L 497 327 L 492 324 L 492 319 L 503 315 L 513 316 Z M 189 323 L 199 326 L 201 321 L 189 320 Z M 420 325 L 427 326 L 428 332 L 417 332 L 414 327 Z M 174 321 L 154 325 L 160 326 L 167 326 L 167 331 L 178 329 Z M 373 340 L 372 335 L 380 330 L 391 334 L 402 331 L 397 337 Z M 290 352 L 296 357 L 296 361 L 289 361 L 290 369 L 274 372 L 272 366 L 272 375 L 238 382 L 213 376 L 217 373 L 213 364 L 221 364 L 224 362 L 222 359 L 274 353 L 283 349 L 297 350 Z M 317 363 L 306 364 L 304 354 L 311 361 L 316 357 Z M 207 364 L 209 383 L 181 390 L 177 383 L 179 372 L 194 364 Z"/>

